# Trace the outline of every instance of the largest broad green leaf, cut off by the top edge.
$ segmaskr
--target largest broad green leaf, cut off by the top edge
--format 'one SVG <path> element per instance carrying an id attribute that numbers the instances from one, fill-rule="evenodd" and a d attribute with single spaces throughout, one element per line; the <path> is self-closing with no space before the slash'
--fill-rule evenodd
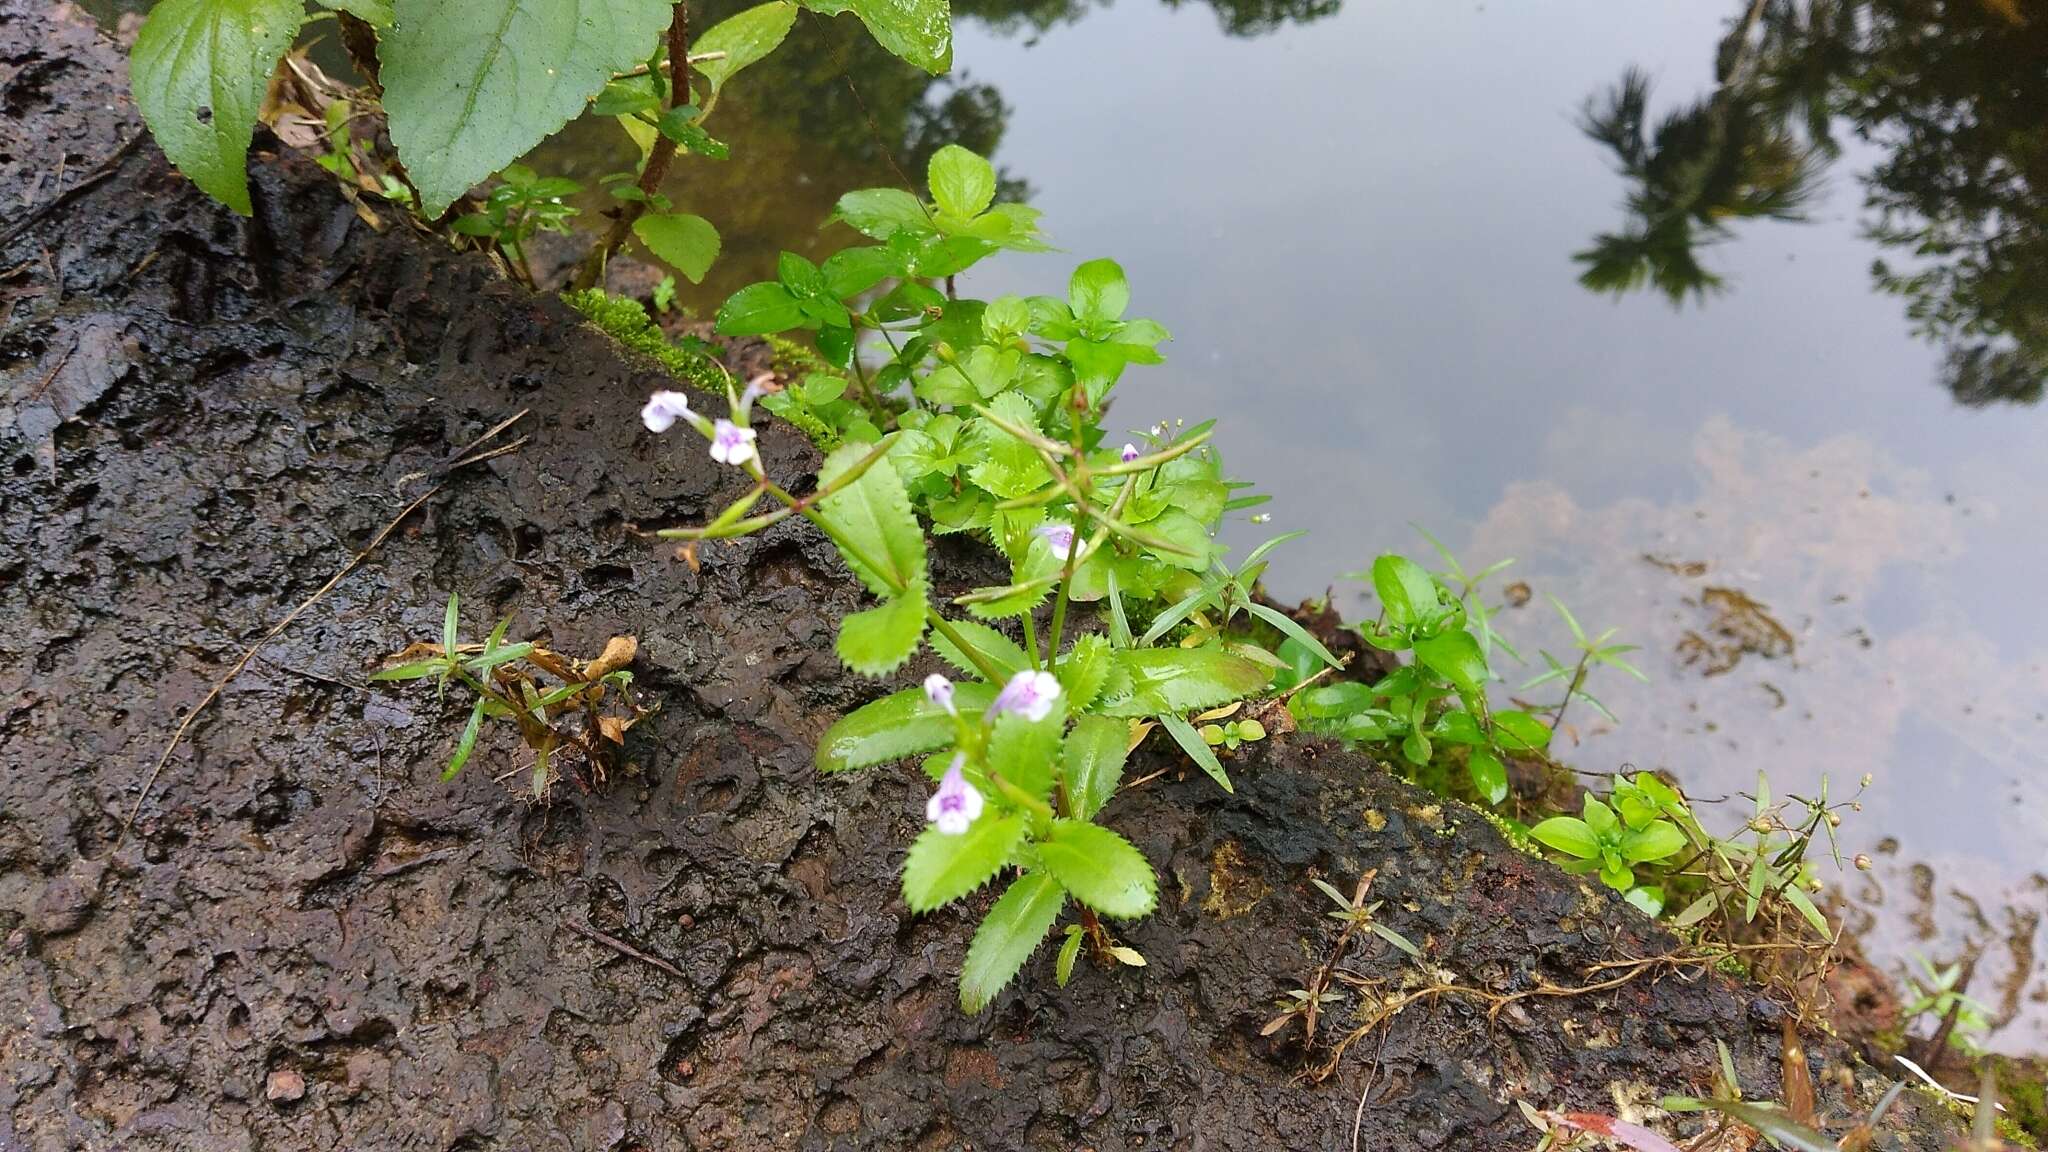
<path id="1" fill-rule="evenodd" d="M 670 0 L 395 0 L 379 80 L 420 209 L 440 215 L 569 123 L 653 51 L 672 10 Z"/>

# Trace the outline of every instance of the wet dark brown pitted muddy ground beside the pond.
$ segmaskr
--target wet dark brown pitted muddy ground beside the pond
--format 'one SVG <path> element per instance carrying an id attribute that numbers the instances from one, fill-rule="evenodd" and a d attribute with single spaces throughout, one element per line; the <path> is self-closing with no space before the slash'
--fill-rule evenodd
<path id="1" fill-rule="evenodd" d="M 733 474 L 639 426 L 657 369 L 274 148 L 236 219 L 127 143 L 123 88 L 74 12 L 0 2 L 0 1148 L 1528 1148 L 1516 1099 L 1704 1091 L 1716 1037 L 1778 1082 L 1778 1009 L 1669 974 L 1497 1019 L 1417 1004 L 1309 1082 L 1260 1027 L 1333 941 L 1315 875 L 1378 869 L 1384 918 L 1495 992 L 1671 939 L 1288 742 L 1233 763 L 1235 797 L 1169 771 L 1110 810 L 1163 879 L 1126 935 L 1147 968 L 1061 992 L 1047 949 L 963 1017 L 971 916 L 897 898 L 924 787 L 811 769 L 885 689 L 831 656 L 856 603 L 829 547 L 795 525 L 672 560 L 633 529 Z M 442 478 L 266 646 L 123 838 L 211 683 L 520 410 L 524 447 Z M 815 463 L 784 428 L 762 449 Z M 637 633 L 662 711 L 633 767 L 535 808 L 494 734 L 438 783 L 459 703 L 362 678 L 449 590 L 477 631 Z M 1348 968 L 1413 978 L 1384 947 Z M 1882 1088 L 1812 1062 L 1823 1099 Z M 1913 1095 L 1892 1117 L 1913 1148 L 1948 1123 Z"/>

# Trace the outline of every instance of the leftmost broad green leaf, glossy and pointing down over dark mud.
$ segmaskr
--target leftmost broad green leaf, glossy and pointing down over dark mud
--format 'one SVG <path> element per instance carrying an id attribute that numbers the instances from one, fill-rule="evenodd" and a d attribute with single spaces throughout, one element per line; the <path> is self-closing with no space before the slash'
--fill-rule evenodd
<path id="1" fill-rule="evenodd" d="M 256 113 L 303 18 L 299 0 L 164 0 L 135 35 L 129 84 L 158 148 L 242 215 Z"/>

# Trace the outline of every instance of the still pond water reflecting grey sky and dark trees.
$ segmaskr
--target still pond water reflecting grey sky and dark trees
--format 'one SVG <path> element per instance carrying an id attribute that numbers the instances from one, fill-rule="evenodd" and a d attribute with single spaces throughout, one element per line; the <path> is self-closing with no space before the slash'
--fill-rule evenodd
<path id="1" fill-rule="evenodd" d="M 1501 627 L 1526 650 L 1567 642 L 1544 594 L 1645 648 L 1649 685 L 1595 685 L 1620 722 L 1577 717 L 1581 769 L 1698 795 L 1870 773 L 1843 828 L 1878 857 L 1843 877 L 1866 943 L 1892 970 L 1980 949 L 1993 1043 L 2048 1045 L 2048 20 L 1772 4 L 1722 55 L 1747 4 L 979 8 L 936 84 L 819 20 L 735 84 L 743 160 L 672 184 L 727 236 L 688 303 L 844 244 L 817 230 L 840 191 L 903 184 L 948 139 L 991 152 L 1065 254 L 999 258 L 975 295 L 1118 258 L 1174 342 L 1116 414 L 1223 418 L 1274 494 L 1235 543 L 1313 531 L 1276 592 L 1370 611 L 1337 574 L 1425 558 L 1411 523 L 1473 568 L 1516 558 L 1538 596 Z M 1630 123 L 1595 141 L 1585 109 L 1630 68 L 1640 148 Z M 631 152 L 588 125 L 541 160 L 594 178 Z M 1915 252 L 1929 213 L 1944 250 Z M 1628 236 L 1618 293 L 1579 283 L 1602 234 Z M 1726 611 L 1751 603 L 1782 631 Z"/>

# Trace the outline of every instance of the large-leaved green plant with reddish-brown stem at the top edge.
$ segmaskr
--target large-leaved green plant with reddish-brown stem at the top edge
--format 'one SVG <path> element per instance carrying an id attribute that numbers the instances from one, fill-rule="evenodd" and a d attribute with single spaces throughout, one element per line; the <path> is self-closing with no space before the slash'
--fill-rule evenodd
<path id="1" fill-rule="evenodd" d="M 772 0 L 729 16 L 694 43 L 674 0 L 164 0 L 135 39 L 135 105 L 172 164 L 207 195 L 250 213 L 248 148 L 270 74 L 299 31 L 319 18 L 358 23 L 375 55 L 356 64 L 375 84 L 356 100 L 389 119 L 401 197 L 428 219 L 498 170 L 520 187 L 514 160 L 586 111 L 616 117 L 641 146 L 635 172 L 606 180 L 621 209 L 580 273 L 590 287 L 631 234 L 690 281 L 719 254 L 719 232 L 674 211 L 662 180 L 678 154 L 723 160 L 705 119 L 723 86 L 772 53 L 799 8 L 852 12 L 891 53 L 952 66 L 946 0 Z M 356 41 L 360 43 L 360 41 Z M 346 135 L 340 141 L 346 154 Z M 524 184 L 532 184 L 528 174 Z M 508 236 L 500 201 L 477 236 Z M 514 240 L 518 236 L 514 234 Z M 508 246 L 510 252 L 510 246 Z"/>

